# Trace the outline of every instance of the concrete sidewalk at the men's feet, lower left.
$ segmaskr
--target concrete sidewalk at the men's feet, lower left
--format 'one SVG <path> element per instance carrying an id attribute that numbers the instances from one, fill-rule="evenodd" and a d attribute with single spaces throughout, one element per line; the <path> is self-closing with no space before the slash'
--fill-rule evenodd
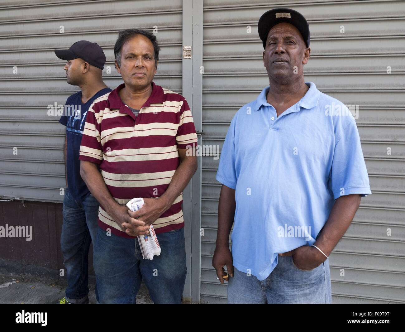
<path id="1" fill-rule="evenodd" d="M 94 276 L 89 280 L 90 303 L 96 303 Z M 0 304 L 59 304 L 65 296 L 66 278 L 35 276 L 27 273 L 0 273 Z M 144 283 L 136 296 L 137 304 L 152 304 Z"/>

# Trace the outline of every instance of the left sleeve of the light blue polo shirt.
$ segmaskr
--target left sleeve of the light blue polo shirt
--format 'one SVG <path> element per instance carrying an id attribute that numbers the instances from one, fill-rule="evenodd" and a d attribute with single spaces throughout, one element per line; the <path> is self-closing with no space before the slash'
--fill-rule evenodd
<path id="1" fill-rule="evenodd" d="M 236 189 L 236 153 L 235 153 L 235 118 L 229 126 L 226 134 L 224 146 L 221 150 L 220 164 L 218 166 L 217 176 L 215 179 L 225 186 Z"/>

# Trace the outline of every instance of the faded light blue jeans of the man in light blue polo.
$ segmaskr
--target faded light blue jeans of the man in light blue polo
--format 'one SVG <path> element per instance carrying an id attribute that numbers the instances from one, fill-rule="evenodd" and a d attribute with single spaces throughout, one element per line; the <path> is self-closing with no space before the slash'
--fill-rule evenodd
<path id="1" fill-rule="evenodd" d="M 260 281 L 234 269 L 228 281 L 228 303 L 331 303 L 329 261 L 313 270 L 300 270 L 292 256 L 278 256 L 271 274 Z"/>

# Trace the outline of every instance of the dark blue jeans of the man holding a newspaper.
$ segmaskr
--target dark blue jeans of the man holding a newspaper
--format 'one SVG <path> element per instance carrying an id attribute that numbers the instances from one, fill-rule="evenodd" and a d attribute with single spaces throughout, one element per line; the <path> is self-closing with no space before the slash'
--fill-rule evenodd
<path id="1" fill-rule="evenodd" d="M 156 235 L 161 253 L 143 259 L 137 238 L 98 228 L 94 271 L 100 303 L 135 303 L 142 279 L 154 303 L 181 303 L 186 261 L 184 228 Z"/>

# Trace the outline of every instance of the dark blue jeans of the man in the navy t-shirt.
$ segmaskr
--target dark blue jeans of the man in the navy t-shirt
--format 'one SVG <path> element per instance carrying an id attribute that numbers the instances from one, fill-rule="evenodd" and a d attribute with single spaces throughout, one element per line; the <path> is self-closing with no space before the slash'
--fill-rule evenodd
<path id="1" fill-rule="evenodd" d="M 81 303 L 87 300 L 89 293 L 88 268 L 90 243 L 96 239 L 98 229 L 98 207 L 100 204 L 93 195 L 83 202 L 76 201 L 69 191 L 65 190 L 63 199 L 63 225 L 60 237 L 60 248 L 66 267 L 66 300 Z M 97 297 L 97 289 L 96 289 Z"/>

